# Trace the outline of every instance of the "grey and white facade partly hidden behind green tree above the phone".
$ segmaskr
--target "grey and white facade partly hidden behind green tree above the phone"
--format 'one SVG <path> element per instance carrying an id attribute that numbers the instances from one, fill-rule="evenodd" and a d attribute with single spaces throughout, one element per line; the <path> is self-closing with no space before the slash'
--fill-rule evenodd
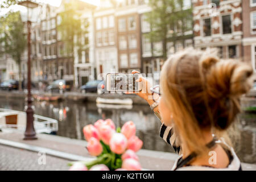
<path id="1" fill-rule="evenodd" d="M 191 10 L 191 7 L 191 0 L 183 1 L 183 11 Z M 146 74 L 160 73 L 165 61 L 163 56 L 164 47 L 167 49 L 166 56 L 169 57 L 177 51 L 193 46 L 193 22 L 191 18 L 185 18 L 186 20 L 183 20 L 183 22 L 177 20 L 175 26 L 172 26 L 171 23 L 167 24 L 168 35 L 166 45 L 164 45 L 163 41 L 151 42 L 148 34 L 152 31 L 152 26 L 148 22 L 146 15 L 150 11 L 152 11 L 151 8 L 147 5 L 146 1 L 143 1 L 139 8 L 139 14 L 141 19 L 142 72 Z M 180 27 L 177 26 L 178 24 Z M 184 28 L 181 28 L 182 26 Z"/>

